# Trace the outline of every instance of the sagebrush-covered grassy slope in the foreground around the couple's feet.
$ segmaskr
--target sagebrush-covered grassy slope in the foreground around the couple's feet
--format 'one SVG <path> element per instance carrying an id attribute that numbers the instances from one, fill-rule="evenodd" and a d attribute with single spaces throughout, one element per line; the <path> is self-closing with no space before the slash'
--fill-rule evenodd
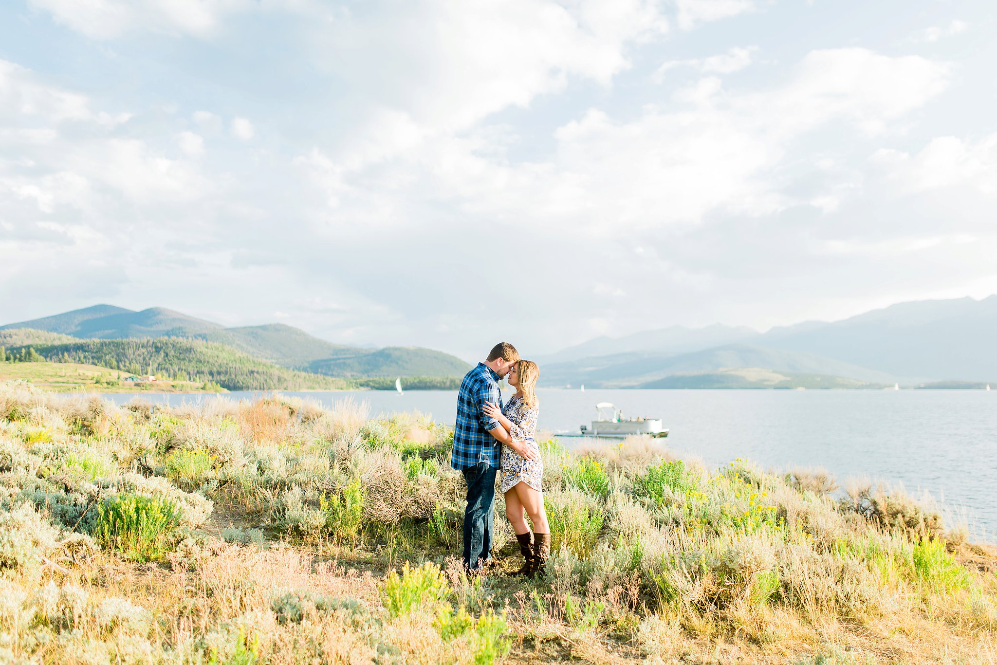
<path id="1" fill-rule="evenodd" d="M 497 503 L 462 571 L 452 434 L 268 397 L 210 409 L 0 384 L 12 663 L 992 662 L 997 551 L 819 470 L 541 442 L 552 556 Z M 806 442 L 803 442 L 804 444 Z M 857 460 L 856 473 L 861 473 Z M 142 473 L 136 473 L 136 469 Z"/>

